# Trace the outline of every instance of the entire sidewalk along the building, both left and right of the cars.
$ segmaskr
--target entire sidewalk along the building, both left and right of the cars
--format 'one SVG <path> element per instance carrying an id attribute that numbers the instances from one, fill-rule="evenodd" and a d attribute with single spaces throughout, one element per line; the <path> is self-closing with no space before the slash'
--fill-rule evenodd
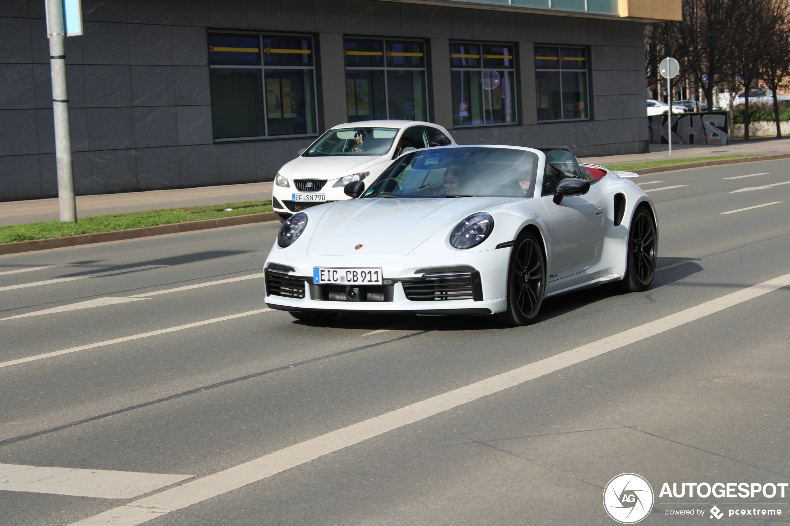
<path id="1" fill-rule="evenodd" d="M 709 155 L 790 154 L 788 139 L 755 139 L 748 143 L 735 140 L 727 146 L 694 146 L 673 144 L 672 157 L 707 157 Z M 667 144 L 651 144 L 649 154 L 609 155 L 581 159 L 598 165 L 619 162 L 642 162 L 668 159 Z M 205 186 L 152 192 L 130 192 L 103 196 L 77 197 L 77 217 L 122 214 L 155 210 L 157 208 L 195 207 L 206 204 L 235 203 L 272 199 L 272 183 L 246 185 Z M 52 221 L 58 218 L 58 200 L 42 199 L 0 203 L 0 226 Z"/>

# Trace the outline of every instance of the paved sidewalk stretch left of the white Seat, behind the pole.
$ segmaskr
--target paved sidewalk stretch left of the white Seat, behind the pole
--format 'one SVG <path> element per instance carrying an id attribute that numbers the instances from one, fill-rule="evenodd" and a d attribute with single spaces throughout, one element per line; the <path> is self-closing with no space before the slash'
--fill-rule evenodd
<path id="1" fill-rule="evenodd" d="M 77 217 L 270 199 L 272 199 L 271 182 L 77 196 Z M 57 218 L 57 199 L 0 203 L 0 226 L 52 221 Z"/>

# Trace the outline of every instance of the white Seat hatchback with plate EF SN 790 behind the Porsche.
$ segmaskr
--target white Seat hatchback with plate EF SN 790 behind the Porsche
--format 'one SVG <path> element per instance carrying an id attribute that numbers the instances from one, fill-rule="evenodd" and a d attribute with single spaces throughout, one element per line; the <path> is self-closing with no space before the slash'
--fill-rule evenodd
<path id="1" fill-rule="evenodd" d="M 307 207 L 350 199 L 348 183 L 367 188 L 404 151 L 456 144 L 442 126 L 423 121 L 359 121 L 329 129 L 277 172 L 272 207 L 288 218 Z"/>

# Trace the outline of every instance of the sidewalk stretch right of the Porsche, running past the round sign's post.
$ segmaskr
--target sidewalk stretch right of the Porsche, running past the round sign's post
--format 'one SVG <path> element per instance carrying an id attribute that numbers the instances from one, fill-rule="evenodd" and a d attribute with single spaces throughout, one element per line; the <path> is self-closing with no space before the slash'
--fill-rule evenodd
<path id="1" fill-rule="evenodd" d="M 645 162 L 669 159 L 668 144 L 651 144 L 649 154 L 608 155 L 606 157 L 585 157 L 583 162 L 597 165 L 610 165 L 620 162 Z M 749 154 L 790 154 L 790 137 L 781 139 L 759 138 L 748 143 L 736 139 L 727 146 L 699 146 L 696 144 L 672 144 L 672 159 L 687 157 L 708 157 L 709 155 L 749 155 Z"/>

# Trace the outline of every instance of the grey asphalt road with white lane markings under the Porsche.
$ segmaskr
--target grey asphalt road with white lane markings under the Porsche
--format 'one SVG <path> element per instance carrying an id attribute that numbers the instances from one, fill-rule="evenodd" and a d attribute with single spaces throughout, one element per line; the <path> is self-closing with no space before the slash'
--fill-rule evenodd
<path id="1" fill-rule="evenodd" d="M 553 298 L 519 328 L 310 326 L 266 311 L 259 278 L 189 288 L 259 274 L 279 223 L 2 257 L 0 524 L 616 524 L 602 494 L 624 472 L 655 493 L 641 524 L 788 523 L 790 491 L 660 496 L 790 483 L 787 287 L 487 396 L 453 391 L 790 273 L 788 168 L 639 177 L 659 213 L 651 289 Z M 74 304 L 92 306 L 58 311 Z M 455 401 L 419 404 L 440 395 Z M 428 412 L 386 416 L 410 405 Z M 729 515 L 747 507 L 781 516 Z"/>

